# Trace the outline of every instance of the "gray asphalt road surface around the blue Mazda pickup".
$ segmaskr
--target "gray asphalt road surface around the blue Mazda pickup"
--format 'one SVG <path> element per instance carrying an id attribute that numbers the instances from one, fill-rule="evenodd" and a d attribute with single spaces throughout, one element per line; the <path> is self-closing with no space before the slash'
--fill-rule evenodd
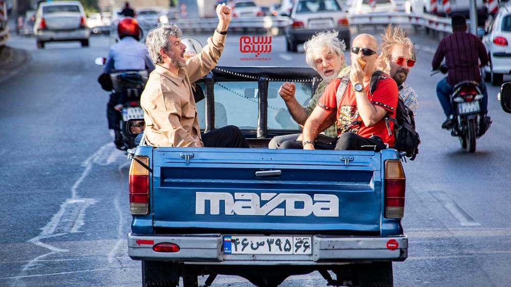
<path id="1" fill-rule="evenodd" d="M 273 37 L 271 61 L 241 61 L 239 37 L 228 36 L 220 65 L 306 66 L 303 53 L 286 53 L 282 36 Z M 405 164 L 409 258 L 394 264 L 394 283 L 509 285 L 511 115 L 501 110 L 497 87 L 488 85 L 493 125 L 476 153 L 461 150 L 440 129 L 441 76 L 429 72 L 438 41 L 412 38 L 419 54 L 408 83 L 420 97 L 422 145 Z M 126 246 L 128 161 L 112 144 L 108 95 L 96 82 L 101 67 L 94 59 L 106 56 L 109 38 L 92 37 L 88 48 L 50 43 L 37 50 L 33 38 L 16 36 L 8 44 L 27 49 L 31 60 L 0 79 L 0 286 L 140 285 L 140 262 Z M 282 284 L 324 285 L 318 273 Z M 219 276 L 213 286 L 251 284 Z"/>

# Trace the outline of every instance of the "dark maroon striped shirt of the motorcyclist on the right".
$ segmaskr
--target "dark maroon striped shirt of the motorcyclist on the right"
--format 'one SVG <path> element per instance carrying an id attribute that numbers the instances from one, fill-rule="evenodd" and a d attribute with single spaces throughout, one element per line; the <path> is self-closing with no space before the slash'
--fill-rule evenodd
<path id="1" fill-rule="evenodd" d="M 446 58 L 449 68 L 447 82 L 454 86 L 461 81 L 481 82 L 479 59 L 481 66 L 488 63 L 488 54 L 481 40 L 472 34 L 454 32 L 442 39 L 431 62 L 433 69 L 438 69 Z"/>

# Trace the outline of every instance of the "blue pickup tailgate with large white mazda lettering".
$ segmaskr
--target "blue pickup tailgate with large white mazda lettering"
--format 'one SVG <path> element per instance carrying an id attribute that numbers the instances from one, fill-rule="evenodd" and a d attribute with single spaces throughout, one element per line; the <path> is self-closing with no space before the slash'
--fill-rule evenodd
<path id="1" fill-rule="evenodd" d="M 380 153 L 158 148 L 153 172 L 155 228 L 380 231 Z"/>

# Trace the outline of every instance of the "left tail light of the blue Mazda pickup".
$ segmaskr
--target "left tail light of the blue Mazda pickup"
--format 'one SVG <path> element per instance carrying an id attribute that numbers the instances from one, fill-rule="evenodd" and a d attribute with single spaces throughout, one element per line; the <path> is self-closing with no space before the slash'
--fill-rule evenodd
<path id="1" fill-rule="evenodd" d="M 149 166 L 149 158 L 136 156 L 134 159 Z M 132 215 L 149 213 L 149 170 L 136 160 L 129 169 L 129 207 Z"/>

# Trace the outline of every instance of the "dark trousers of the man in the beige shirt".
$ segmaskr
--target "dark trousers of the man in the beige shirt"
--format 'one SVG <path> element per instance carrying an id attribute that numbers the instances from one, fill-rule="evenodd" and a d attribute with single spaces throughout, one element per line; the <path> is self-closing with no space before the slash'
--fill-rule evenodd
<path id="1" fill-rule="evenodd" d="M 205 147 L 249 147 L 243 133 L 235 125 L 217 128 L 202 135 Z"/>

